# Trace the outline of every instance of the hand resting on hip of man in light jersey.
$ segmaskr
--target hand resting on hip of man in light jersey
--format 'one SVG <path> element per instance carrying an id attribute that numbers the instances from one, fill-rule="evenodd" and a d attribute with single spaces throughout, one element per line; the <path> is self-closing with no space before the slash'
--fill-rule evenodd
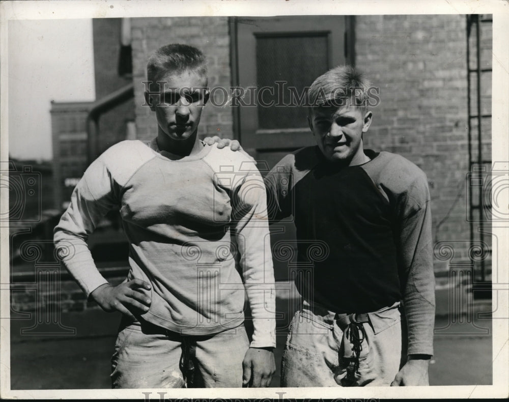
<path id="1" fill-rule="evenodd" d="M 149 310 L 152 301 L 150 293 L 145 291 L 150 289 L 150 283 L 133 279 L 118 286 L 105 283 L 94 290 L 90 296 L 104 311 L 120 311 L 135 320 L 133 312 L 144 313 Z"/>

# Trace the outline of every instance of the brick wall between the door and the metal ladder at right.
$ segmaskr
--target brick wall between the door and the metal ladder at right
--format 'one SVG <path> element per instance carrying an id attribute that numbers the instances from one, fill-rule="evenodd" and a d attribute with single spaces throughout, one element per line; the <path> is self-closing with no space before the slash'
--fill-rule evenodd
<path id="1" fill-rule="evenodd" d="M 454 241 L 460 259 L 470 233 L 466 38 L 462 15 L 356 17 L 356 65 L 381 98 L 365 146 L 401 154 L 426 172 L 434 239 Z M 483 46 L 491 49 L 491 39 Z M 488 147 L 490 130 L 483 135 Z"/>

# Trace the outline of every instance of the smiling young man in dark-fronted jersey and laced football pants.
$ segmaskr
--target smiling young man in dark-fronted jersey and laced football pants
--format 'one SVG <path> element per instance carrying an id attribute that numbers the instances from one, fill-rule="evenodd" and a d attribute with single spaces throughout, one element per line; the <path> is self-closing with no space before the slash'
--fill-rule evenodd
<path id="1" fill-rule="evenodd" d="M 350 66 L 318 77 L 308 116 L 317 146 L 287 155 L 265 178 L 271 219 L 294 216 L 299 262 L 309 262 L 303 240 L 326 244 L 313 280 L 296 279 L 303 308 L 290 326 L 282 386 L 429 385 L 427 178 L 399 155 L 364 150 L 369 88 Z"/>

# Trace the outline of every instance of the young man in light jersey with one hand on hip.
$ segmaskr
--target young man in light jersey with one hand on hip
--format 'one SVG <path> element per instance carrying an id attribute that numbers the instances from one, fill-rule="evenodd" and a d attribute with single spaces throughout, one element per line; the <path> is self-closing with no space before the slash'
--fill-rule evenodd
<path id="1" fill-rule="evenodd" d="M 156 138 L 117 143 L 89 166 L 55 227 L 55 245 L 87 296 L 124 314 L 112 387 L 269 386 L 275 292 L 263 180 L 247 155 L 197 136 L 209 97 L 200 50 L 163 46 L 147 75 Z M 129 241 L 130 269 L 118 286 L 86 243 L 111 209 Z"/>

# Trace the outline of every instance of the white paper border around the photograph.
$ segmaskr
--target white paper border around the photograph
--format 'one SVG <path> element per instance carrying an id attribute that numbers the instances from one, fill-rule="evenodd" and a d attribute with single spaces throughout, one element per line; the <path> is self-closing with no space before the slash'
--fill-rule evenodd
<path id="1" fill-rule="evenodd" d="M 271 1 L 193 1 L 165 2 L 137 0 L 105 1 L 5 1 L 0 3 L 0 161 L 8 160 L 8 21 L 13 19 L 68 19 L 177 16 L 275 16 L 275 15 L 375 15 L 375 14 L 493 14 L 492 80 L 492 161 L 509 171 L 509 3 L 497 0 L 443 0 L 413 4 L 407 1 L 339 2 L 320 0 Z M 0 213 L 8 209 L 8 191 L 0 191 Z M 507 192 L 502 205 L 508 206 Z M 505 202 L 505 204 L 503 204 Z M 84 389 L 11 390 L 10 389 L 10 290 L 9 229 L 0 225 L 0 395 L 22 399 L 150 398 L 502 398 L 509 394 L 509 225 L 493 224 L 497 229 L 499 250 L 493 256 L 493 272 L 503 278 L 493 283 L 493 385 L 365 388 L 242 388 L 242 389 Z M 474 369 L 474 368 L 473 368 Z"/>

